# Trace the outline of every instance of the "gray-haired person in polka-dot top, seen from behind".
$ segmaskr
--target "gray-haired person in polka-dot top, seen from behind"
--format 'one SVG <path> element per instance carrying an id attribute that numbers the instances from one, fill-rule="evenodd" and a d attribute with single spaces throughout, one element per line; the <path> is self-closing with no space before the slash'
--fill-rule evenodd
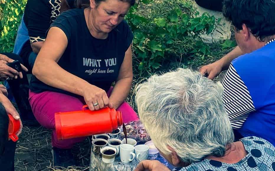
<path id="1" fill-rule="evenodd" d="M 275 148 L 258 137 L 233 142 L 222 85 L 179 69 L 138 85 L 141 121 L 163 157 L 181 170 L 275 170 Z M 143 161 L 136 171 L 169 170 Z"/>

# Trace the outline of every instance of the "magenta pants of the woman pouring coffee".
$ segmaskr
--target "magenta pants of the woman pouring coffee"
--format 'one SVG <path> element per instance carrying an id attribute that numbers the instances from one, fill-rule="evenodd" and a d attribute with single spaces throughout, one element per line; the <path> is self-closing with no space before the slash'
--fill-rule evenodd
<path id="1" fill-rule="evenodd" d="M 107 92 L 110 96 L 112 87 Z M 32 107 L 33 114 L 37 121 L 47 129 L 53 129 L 52 133 L 52 145 L 53 147 L 70 149 L 77 142 L 83 141 L 86 137 L 72 138 L 65 140 L 58 140 L 55 132 L 55 112 L 67 112 L 82 110 L 82 106 L 85 105 L 83 97 L 73 97 L 63 93 L 57 93 L 53 91 L 45 91 L 42 93 L 34 93 L 30 91 L 29 96 L 30 105 Z M 124 123 L 138 120 L 138 115 L 131 108 L 131 106 L 123 102 L 118 111 L 122 112 L 122 118 Z"/>

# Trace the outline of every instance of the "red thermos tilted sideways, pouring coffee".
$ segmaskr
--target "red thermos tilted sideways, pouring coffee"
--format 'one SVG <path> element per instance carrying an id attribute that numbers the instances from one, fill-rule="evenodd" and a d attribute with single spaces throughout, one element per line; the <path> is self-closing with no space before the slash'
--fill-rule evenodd
<path id="1" fill-rule="evenodd" d="M 55 131 L 58 139 L 86 137 L 95 134 L 109 133 L 123 124 L 122 113 L 109 107 L 97 111 L 82 111 L 55 113 Z"/>

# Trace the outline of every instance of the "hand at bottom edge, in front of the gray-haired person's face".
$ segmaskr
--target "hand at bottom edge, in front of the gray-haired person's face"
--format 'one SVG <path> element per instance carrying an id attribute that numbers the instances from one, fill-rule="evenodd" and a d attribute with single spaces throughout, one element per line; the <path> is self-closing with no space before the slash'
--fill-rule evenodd
<path id="1" fill-rule="evenodd" d="M 135 168 L 135 171 L 170 171 L 170 169 L 164 166 L 158 160 L 143 160 Z"/>

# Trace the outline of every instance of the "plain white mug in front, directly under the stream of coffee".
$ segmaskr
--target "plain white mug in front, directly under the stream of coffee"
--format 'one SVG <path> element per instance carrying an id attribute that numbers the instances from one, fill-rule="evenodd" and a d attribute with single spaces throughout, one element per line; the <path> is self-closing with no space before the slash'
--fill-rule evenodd
<path id="1" fill-rule="evenodd" d="M 129 163 L 135 159 L 134 153 L 135 147 L 131 144 L 120 145 L 120 161 L 123 163 Z"/>

